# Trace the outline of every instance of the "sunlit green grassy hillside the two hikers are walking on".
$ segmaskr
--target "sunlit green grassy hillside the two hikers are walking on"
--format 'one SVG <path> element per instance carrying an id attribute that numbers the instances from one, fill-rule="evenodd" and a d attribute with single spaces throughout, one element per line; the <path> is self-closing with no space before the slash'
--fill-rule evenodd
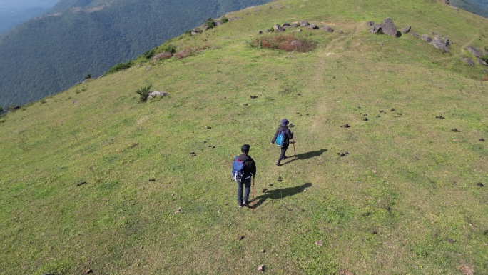
<path id="1" fill-rule="evenodd" d="M 185 59 L 139 59 L 1 118 L 0 274 L 488 273 L 487 81 L 461 60 L 488 44 L 487 19 L 422 0 L 229 16 L 169 41 Z M 449 35 L 451 53 L 368 33 L 386 17 Z M 307 53 L 250 46 L 302 19 L 336 31 L 285 31 Z M 148 84 L 169 96 L 139 103 Z M 296 156 L 278 167 L 283 117 Z M 230 181 L 244 143 L 254 214 Z"/>

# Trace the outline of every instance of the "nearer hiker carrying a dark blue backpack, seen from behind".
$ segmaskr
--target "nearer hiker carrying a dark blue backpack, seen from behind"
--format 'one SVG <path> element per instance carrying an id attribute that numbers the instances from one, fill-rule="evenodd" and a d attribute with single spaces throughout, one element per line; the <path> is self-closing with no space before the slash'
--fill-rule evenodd
<path id="1" fill-rule="evenodd" d="M 249 199 L 251 177 L 256 175 L 256 164 L 254 162 L 254 159 L 248 155 L 249 150 L 250 150 L 249 144 L 244 144 L 243 146 L 241 146 L 240 151 L 242 151 L 243 154 L 236 156 L 233 164 L 233 179 L 238 184 L 239 208 L 243 206 L 249 206 L 248 199 Z M 239 168 L 239 164 L 241 164 L 240 168 Z M 238 167 L 237 171 L 235 171 L 236 170 L 235 166 Z M 244 196 L 243 196 L 243 189 L 244 189 Z"/>

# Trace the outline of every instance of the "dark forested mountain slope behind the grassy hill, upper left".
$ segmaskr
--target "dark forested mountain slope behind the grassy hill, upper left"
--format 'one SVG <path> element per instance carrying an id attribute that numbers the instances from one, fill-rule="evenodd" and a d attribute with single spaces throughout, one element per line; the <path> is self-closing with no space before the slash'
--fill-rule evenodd
<path id="1" fill-rule="evenodd" d="M 61 0 L 0 39 L 0 106 L 99 76 L 209 17 L 269 0 Z"/>

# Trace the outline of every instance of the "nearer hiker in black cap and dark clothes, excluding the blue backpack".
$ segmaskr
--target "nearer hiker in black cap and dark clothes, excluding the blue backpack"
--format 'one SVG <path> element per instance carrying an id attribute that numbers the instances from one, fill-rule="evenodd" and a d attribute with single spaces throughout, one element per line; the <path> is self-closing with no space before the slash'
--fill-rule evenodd
<path id="1" fill-rule="evenodd" d="M 249 206 L 249 191 L 250 191 L 250 184 L 251 184 L 251 176 L 256 175 L 256 164 L 254 159 L 251 158 L 248 153 L 250 150 L 249 144 L 244 144 L 240 147 L 240 151 L 243 154 L 238 156 L 238 159 L 244 163 L 244 175 L 242 182 L 238 182 L 238 206 Z M 243 189 L 244 189 L 244 197 L 243 197 Z"/>

